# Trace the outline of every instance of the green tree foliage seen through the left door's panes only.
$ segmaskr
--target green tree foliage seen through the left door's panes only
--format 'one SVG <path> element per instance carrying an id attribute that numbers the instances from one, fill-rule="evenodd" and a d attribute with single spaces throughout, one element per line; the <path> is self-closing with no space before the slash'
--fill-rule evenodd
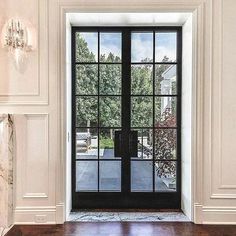
<path id="1" fill-rule="evenodd" d="M 109 65 L 110 62 L 120 62 L 120 58 L 109 53 L 101 55 L 100 60 L 108 64 L 100 65 L 100 95 L 121 95 L 121 65 Z M 76 34 L 76 61 L 94 62 L 95 55 L 89 51 L 83 37 Z M 76 66 L 76 94 L 98 94 L 98 67 L 85 64 Z M 97 125 L 97 97 L 77 98 L 77 124 L 79 126 Z M 119 97 L 100 97 L 100 124 L 102 126 L 121 126 L 121 99 Z M 111 134 L 112 136 L 112 134 Z"/>

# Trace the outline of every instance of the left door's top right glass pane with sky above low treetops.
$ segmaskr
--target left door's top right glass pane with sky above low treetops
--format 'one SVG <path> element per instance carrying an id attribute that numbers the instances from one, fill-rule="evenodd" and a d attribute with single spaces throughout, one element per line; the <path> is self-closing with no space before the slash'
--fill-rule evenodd
<path id="1" fill-rule="evenodd" d="M 121 33 L 100 33 L 100 61 L 121 62 Z"/>

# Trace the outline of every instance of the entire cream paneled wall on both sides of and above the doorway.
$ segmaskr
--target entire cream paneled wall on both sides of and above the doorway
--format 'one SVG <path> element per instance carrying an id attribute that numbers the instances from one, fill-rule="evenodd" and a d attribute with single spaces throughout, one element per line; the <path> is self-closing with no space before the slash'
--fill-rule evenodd
<path id="1" fill-rule="evenodd" d="M 165 6 L 167 2 L 172 4 Z M 82 3 L 82 4 L 81 4 Z M 236 1 L 181 0 L 195 9 L 198 42 L 194 62 L 197 81 L 197 132 L 192 150 L 194 221 L 236 224 Z M 18 113 L 16 119 L 16 223 L 61 223 L 64 220 L 66 149 L 65 37 L 62 18 L 67 10 L 154 11 L 182 9 L 178 0 L 82 1 L 2 0 L 0 27 L 8 17 L 26 18 L 38 32 L 38 49 L 29 54 L 29 66 L 18 73 L 0 49 L 0 113 Z M 91 9 L 92 7 L 92 9 Z M 127 10 L 128 9 L 128 10 Z M 195 25 L 196 26 L 196 25 Z M 204 31 L 201 32 L 203 26 Z M 63 29 L 63 31 L 61 30 Z M 200 59 L 201 60 L 200 60 Z M 201 63 L 199 62 L 201 61 Z M 61 81 L 61 79 L 64 81 Z M 202 110 L 203 108 L 203 110 Z M 43 215 L 43 219 L 37 217 Z"/>

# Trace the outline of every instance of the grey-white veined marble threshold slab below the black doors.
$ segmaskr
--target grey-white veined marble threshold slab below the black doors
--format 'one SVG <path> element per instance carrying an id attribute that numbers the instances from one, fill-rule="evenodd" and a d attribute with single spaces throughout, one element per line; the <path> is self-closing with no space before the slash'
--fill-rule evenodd
<path id="1" fill-rule="evenodd" d="M 72 222 L 189 222 L 182 212 L 71 212 Z"/>

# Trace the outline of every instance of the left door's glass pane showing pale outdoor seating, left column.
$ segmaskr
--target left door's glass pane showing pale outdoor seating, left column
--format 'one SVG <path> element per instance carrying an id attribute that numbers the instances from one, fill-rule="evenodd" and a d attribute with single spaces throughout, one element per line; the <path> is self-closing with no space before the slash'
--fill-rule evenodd
<path id="1" fill-rule="evenodd" d="M 97 129 L 76 129 L 76 159 L 98 158 Z"/>

